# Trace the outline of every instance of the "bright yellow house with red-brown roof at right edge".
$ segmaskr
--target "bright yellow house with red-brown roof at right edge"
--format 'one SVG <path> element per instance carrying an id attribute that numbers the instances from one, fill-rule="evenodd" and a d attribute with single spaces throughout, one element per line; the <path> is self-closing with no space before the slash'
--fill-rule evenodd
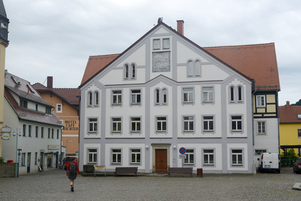
<path id="1" fill-rule="evenodd" d="M 301 106 L 279 106 L 280 147 L 282 151 L 294 148 L 301 155 Z M 284 152 L 284 154 L 286 154 Z"/>

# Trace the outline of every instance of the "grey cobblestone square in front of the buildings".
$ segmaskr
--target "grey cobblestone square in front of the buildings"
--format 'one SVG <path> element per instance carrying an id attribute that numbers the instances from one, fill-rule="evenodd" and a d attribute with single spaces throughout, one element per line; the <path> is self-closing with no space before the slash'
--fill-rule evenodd
<path id="1" fill-rule="evenodd" d="M 1 200 L 300 200 L 301 174 L 79 177 L 74 192 L 64 170 L 0 179 Z"/>

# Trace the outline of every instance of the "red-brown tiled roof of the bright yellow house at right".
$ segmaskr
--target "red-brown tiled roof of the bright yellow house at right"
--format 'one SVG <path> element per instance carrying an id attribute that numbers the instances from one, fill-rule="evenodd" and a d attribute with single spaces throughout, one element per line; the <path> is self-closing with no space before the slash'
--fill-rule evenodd
<path id="1" fill-rule="evenodd" d="M 279 122 L 280 123 L 301 123 L 301 119 L 297 118 L 297 114 L 301 114 L 301 106 L 279 106 Z"/>

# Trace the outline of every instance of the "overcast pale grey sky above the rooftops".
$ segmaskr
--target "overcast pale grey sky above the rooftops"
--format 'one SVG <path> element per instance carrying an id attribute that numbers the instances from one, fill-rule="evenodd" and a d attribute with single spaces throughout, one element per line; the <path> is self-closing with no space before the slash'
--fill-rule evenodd
<path id="1" fill-rule="evenodd" d="M 122 53 L 163 22 L 201 47 L 275 43 L 279 105 L 301 99 L 301 1 L 3 0 L 6 69 L 32 84 L 77 88 L 89 56 Z M 44 85 L 47 85 L 46 82 Z"/>

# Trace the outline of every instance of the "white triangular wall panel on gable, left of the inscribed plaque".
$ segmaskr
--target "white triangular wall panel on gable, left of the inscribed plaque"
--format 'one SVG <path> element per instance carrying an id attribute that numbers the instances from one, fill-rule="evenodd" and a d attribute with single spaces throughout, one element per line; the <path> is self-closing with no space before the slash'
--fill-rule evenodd
<path id="1" fill-rule="evenodd" d="M 123 67 L 125 63 L 130 64 L 132 62 L 136 63 L 137 66 L 145 66 L 145 44 L 121 61 L 116 67 Z"/>

